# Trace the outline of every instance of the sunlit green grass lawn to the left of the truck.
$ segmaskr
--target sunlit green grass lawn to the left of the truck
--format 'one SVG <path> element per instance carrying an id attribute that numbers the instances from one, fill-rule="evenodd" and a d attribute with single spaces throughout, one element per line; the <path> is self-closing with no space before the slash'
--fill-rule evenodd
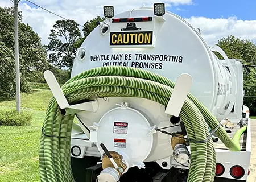
<path id="1" fill-rule="evenodd" d="M 32 112 L 30 126 L 0 126 L 0 181 L 40 181 L 39 140 L 52 93 L 47 89 L 34 89 L 22 94 L 22 109 Z M 0 109 L 13 109 L 16 101 L 0 101 Z"/>

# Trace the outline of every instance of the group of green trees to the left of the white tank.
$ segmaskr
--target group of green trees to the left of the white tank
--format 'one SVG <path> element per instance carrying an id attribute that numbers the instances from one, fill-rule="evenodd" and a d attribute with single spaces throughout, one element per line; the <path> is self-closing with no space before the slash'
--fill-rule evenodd
<path id="1" fill-rule="evenodd" d="M 46 83 L 43 73 L 51 70 L 59 84 L 69 80 L 76 49 L 97 26 L 98 16 L 85 22 L 82 33 L 74 20 L 58 20 L 49 34 L 49 44 L 43 45 L 29 24 L 22 22 L 19 11 L 20 89 L 31 92 L 31 83 Z M 14 54 L 14 7 L 0 7 L 0 99 L 13 100 L 16 96 Z M 47 56 L 47 52 L 51 51 Z M 64 68 L 64 69 L 61 69 Z"/>

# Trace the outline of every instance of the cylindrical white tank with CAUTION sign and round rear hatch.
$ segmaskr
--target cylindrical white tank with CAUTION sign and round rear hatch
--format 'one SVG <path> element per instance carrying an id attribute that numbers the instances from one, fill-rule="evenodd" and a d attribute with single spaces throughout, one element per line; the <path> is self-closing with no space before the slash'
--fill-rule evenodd
<path id="1" fill-rule="evenodd" d="M 134 22 L 140 18 L 142 21 Z M 193 78 L 189 91 L 217 119 L 224 119 L 234 104 L 236 81 L 225 53 L 215 47 L 215 51 L 224 56 L 229 69 L 218 60 L 213 48 L 179 16 L 170 12 L 163 17 L 155 16 L 153 9 L 143 7 L 101 22 L 77 50 L 71 76 L 110 65 L 147 69 L 173 81 L 188 73 Z M 187 155 L 185 151 L 180 153 L 183 147 L 174 150 L 171 135 L 155 131 L 155 127 L 168 133 L 181 131 L 179 125 L 170 122 L 170 115 L 165 113 L 162 104 L 133 97 L 96 100 L 97 111 L 82 111 L 77 115 L 82 130 L 97 145 L 101 155 L 104 154 L 102 143 L 110 151 L 121 152 L 126 166 L 141 168 L 143 162 L 154 161 L 164 169 L 177 164 L 171 156 L 184 158 Z M 129 109 L 121 103 L 129 105 Z M 88 133 L 85 126 L 92 126 L 94 130 Z"/>

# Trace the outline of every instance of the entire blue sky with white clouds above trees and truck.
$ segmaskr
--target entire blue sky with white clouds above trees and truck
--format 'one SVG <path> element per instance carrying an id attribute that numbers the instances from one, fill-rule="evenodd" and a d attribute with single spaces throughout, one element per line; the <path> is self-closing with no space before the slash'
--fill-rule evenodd
<path id="1" fill-rule="evenodd" d="M 67 19 L 84 24 L 96 16 L 103 15 L 102 6 L 113 5 L 118 12 L 148 6 L 152 2 L 166 2 L 167 10 L 175 13 L 195 28 L 201 28 L 202 36 L 208 44 L 216 44 L 223 37 L 234 35 L 251 39 L 256 43 L 256 0 L 30 0 Z M 61 3 L 60 3 L 61 2 Z M 125 6 L 123 6 L 125 4 Z M 10 0 L 0 0 L 0 6 L 13 6 Z M 150 5 L 152 6 L 152 5 Z M 60 18 L 44 11 L 26 0 L 22 0 L 19 10 L 23 22 L 30 24 L 48 44 L 48 36 L 53 24 Z"/>

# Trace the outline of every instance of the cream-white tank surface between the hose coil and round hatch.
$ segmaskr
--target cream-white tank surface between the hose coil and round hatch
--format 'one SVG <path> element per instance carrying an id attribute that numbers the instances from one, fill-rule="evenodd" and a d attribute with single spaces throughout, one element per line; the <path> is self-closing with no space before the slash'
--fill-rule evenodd
<path id="1" fill-rule="evenodd" d="M 143 98 L 133 98 L 133 97 L 109 97 L 109 98 L 97 98 L 99 104 L 98 110 L 94 113 L 88 111 L 81 111 L 77 113 L 77 116 L 86 126 L 93 126 L 94 122 L 99 122 L 101 117 L 107 113 L 109 110 L 117 107 L 117 103 L 128 102 L 129 107 L 138 110 L 142 113 L 150 126 L 156 125 L 158 128 L 173 126 L 170 122 L 170 116 L 165 113 L 164 106 L 150 100 L 144 100 Z M 80 125 L 84 133 L 86 133 L 91 142 L 97 142 L 97 133 L 91 131 L 90 134 L 86 128 Z M 91 127 L 89 127 L 91 129 Z M 167 132 L 181 131 L 180 126 L 171 127 L 165 129 Z M 159 159 L 164 159 L 172 154 L 172 146 L 170 143 L 171 137 L 163 133 L 156 133 L 152 135 L 154 137 L 154 143 L 152 150 L 144 162 L 155 161 Z"/>

